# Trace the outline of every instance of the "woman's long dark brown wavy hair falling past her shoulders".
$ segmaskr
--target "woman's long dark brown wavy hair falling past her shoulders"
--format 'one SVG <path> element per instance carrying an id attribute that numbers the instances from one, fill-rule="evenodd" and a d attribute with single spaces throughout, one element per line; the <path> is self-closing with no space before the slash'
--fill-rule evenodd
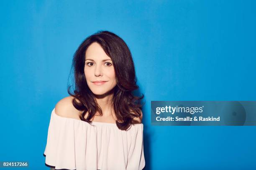
<path id="1" fill-rule="evenodd" d="M 114 95 L 111 107 L 113 107 L 118 119 L 116 121 L 118 128 L 127 130 L 131 126 L 133 118 L 141 116 L 143 106 L 141 105 L 141 99 L 144 95 L 137 97 L 132 93 L 133 90 L 138 89 L 138 85 L 136 85 L 137 78 L 131 51 L 124 40 L 113 32 L 98 31 L 90 35 L 74 53 L 70 72 L 70 75 L 74 75 L 72 81 L 74 85 L 68 83 L 67 86 L 69 95 L 74 97 L 72 104 L 77 110 L 82 111 L 82 115 L 79 115 L 80 119 L 90 124 L 92 123 L 90 120 L 97 111 L 102 115 L 102 110 L 88 87 L 84 75 L 85 52 L 93 42 L 99 43 L 113 61 L 117 85 L 113 88 Z M 71 90 L 71 87 L 74 89 Z M 87 112 L 88 116 L 85 119 L 84 116 Z"/>

